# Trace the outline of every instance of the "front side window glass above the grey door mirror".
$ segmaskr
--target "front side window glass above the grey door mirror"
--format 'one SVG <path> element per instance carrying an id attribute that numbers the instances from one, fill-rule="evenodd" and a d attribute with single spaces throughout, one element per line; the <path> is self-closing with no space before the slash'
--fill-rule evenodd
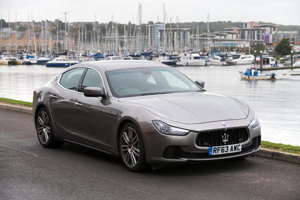
<path id="1" fill-rule="evenodd" d="M 83 89 L 86 87 L 101 88 L 104 93 L 102 78 L 96 70 L 89 68 L 87 73 L 85 73 L 80 92 L 83 93 Z"/>

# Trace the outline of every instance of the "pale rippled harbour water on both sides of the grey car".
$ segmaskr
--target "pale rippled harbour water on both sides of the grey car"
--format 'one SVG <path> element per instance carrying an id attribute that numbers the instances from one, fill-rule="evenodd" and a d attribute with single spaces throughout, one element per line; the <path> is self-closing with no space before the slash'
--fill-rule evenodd
<path id="1" fill-rule="evenodd" d="M 192 80 L 204 80 L 207 91 L 246 102 L 259 118 L 262 140 L 300 145 L 300 76 L 290 76 L 289 70 L 277 70 L 274 81 L 242 80 L 238 71 L 245 71 L 247 67 L 183 66 L 176 69 Z M 0 65 L 0 97 L 32 101 L 34 88 L 47 83 L 61 70 L 63 68 L 44 65 Z"/>

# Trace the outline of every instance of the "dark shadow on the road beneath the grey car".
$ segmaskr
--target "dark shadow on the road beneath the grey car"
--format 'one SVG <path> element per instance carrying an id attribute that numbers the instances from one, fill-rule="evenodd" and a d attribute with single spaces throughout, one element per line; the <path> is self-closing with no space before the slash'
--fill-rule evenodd
<path id="1" fill-rule="evenodd" d="M 127 171 L 120 158 L 108 155 L 106 153 L 98 152 L 93 149 L 84 148 L 75 144 L 65 143 L 61 148 L 53 149 L 57 153 L 62 152 L 67 154 L 72 154 L 74 157 L 85 158 L 87 164 L 99 165 L 101 167 L 115 168 L 121 171 Z M 199 163 L 186 163 L 186 164 L 176 164 L 176 165 L 164 165 L 160 169 L 148 170 L 142 172 L 143 174 L 151 174 L 152 176 L 189 176 L 195 174 L 209 175 L 215 173 L 234 173 L 235 171 L 247 171 L 248 169 L 259 168 L 259 162 L 256 162 L 258 157 L 245 158 L 245 159 L 224 159 L 224 160 L 214 160 L 214 161 L 202 161 Z"/>

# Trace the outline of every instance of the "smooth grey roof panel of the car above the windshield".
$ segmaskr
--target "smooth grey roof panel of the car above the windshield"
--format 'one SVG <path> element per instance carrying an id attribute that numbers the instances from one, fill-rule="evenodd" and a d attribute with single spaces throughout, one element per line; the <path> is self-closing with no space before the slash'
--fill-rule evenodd
<path id="1" fill-rule="evenodd" d="M 163 63 L 146 60 L 103 60 L 88 63 L 100 65 L 105 68 L 106 71 L 128 68 L 170 67 Z"/>

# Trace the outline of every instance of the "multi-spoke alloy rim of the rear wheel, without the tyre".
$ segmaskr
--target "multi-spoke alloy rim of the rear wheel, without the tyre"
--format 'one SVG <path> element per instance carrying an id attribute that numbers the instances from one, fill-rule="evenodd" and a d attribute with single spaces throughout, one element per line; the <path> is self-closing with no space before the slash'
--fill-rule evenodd
<path id="1" fill-rule="evenodd" d="M 37 135 L 41 143 L 46 144 L 50 136 L 49 118 L 46 112 L 42 111 L 37 117 Z"/>

